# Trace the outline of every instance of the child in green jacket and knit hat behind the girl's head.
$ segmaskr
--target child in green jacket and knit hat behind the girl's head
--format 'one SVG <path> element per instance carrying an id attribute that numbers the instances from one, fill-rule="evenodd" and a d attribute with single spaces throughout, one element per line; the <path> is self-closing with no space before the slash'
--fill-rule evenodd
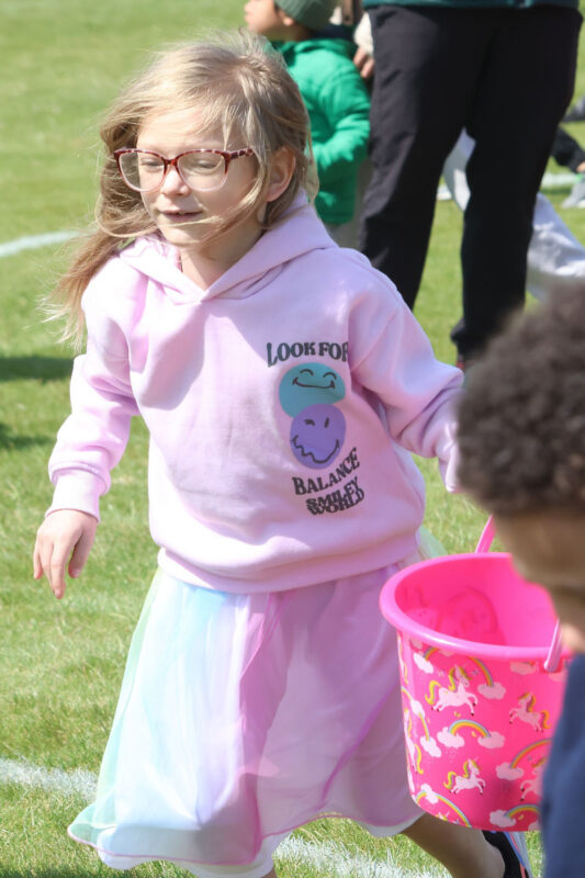
<path id="1" fill-rule="evenodd" d="M 367 156 L 370 98 L 349 40 L 322 35 L 337 0 L 248 0 L 248 27 L 275 43 L 305 101 L 319 179 L 317 212 L 341 247 L 357 246 L 358 169 Z"/>

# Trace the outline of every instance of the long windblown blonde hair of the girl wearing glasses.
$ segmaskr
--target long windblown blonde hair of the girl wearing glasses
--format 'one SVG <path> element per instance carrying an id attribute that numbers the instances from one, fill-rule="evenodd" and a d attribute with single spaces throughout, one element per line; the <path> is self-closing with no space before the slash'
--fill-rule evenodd
<path id="1" fill-rule="evenodd" d="M 247 32 L 217 34 L 200 43 L 175 46 L 125 87 L 100 131 L 105 157 L 100 173 L 95 224 L 87 234 L 55 291 L 53 316 L 66 316 L 64 339 L 80 342 L 81 296 L 91 278 L 121 244 L 151 234 L 156 226 L 139 192 L 122 180 L 114 150 L 134 147 L 148 116 L 196 110 L 202 131 L 222 131 L 224 148 L 251 147 L 258 173 L 250 191 L 228 215 L 210 221 L 209 237 L 222 235 L 251 216 L 269 185 L 271 159 L 286 148 L 295 159 L 286 190 L 269 202 L 260 228 L 269 228 L 306 187 L 311 162 L 308 116 L 297 86 L 281 56 L 263 37 Z"/>

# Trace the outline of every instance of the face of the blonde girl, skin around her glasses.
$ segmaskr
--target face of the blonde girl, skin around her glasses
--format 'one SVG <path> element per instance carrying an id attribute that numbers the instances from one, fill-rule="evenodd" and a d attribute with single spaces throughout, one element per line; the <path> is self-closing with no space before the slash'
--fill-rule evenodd
<path id="1" fill-rule="evenodd" d="M 136 146 L 150 149 L 165 158 L 175 158 L 189 149 L 225 149 L 222 133 L 203 132 L 193 110 L 177 110 L 148 116 L 138 134 Z M 244 149 L 248 144 L 230 144 L 229 148 Z M 143 192 L 142 199 L 150 218 L 160 233 L 181 250 L 188 260 L 220 259 L 225 270 L 234 264 L 258 239 L 263 205 L 259 215 L 252 215 L 221 237 L 204 241 L 211 227 L 203 219 L 224 217 L 249 192 L 257 176 L 254 156 L 241 156 L 229 162 L 225 181 L 220 189 L 196 191 L 179 177 L 177 169 L 168 169 L 158 189 Z"/>

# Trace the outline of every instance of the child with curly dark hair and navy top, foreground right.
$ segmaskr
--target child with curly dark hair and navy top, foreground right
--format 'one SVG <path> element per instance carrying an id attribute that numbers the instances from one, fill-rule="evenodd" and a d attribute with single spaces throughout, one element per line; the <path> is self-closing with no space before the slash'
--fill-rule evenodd
<path id="1" fill-rule="evenodd" d="M 551 595 L 585 653 L 585 288 L 497 338 L 459 408 L 461 486 L 494 515 L 519 573 Z M 583 878 L 585 654 L 571 664 L 544 777 L 545 878 Z"/>

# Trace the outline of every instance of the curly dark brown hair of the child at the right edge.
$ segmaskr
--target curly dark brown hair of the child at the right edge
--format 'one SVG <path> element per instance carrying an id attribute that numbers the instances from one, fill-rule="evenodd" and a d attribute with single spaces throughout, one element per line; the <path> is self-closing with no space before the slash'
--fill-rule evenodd
<path id="1" fill-rule="evenodd" d="M 459 483 L 497 515 L 585 513 L 585 284 L 513 320 L 469 373 Z"/>

